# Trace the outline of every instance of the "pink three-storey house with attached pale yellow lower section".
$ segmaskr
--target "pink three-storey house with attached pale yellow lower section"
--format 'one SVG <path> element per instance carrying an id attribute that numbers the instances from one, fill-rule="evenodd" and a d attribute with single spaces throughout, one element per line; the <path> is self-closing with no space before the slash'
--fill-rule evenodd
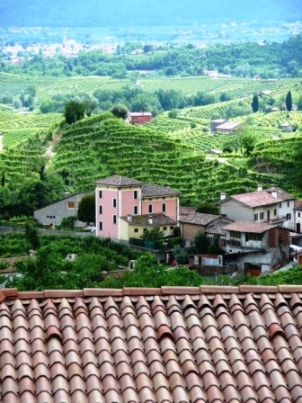
<path id="1" fill-rule="evenodd" d="M 170 235 L 178 225 L 180 192 L 170 186 L 144 184 L 120 175 L 94 184 L 97 237 L 129 242 L 147 228 L 157 227 Z"/>

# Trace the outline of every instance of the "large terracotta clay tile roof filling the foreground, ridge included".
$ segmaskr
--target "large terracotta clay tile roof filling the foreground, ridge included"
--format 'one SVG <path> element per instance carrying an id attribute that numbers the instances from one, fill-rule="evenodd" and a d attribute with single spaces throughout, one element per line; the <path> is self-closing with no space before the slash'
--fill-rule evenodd
<path id="1" fill-rule="evenodd" d="M 0 291 L 3 403 L 302 402 L 302 286 Z"/>

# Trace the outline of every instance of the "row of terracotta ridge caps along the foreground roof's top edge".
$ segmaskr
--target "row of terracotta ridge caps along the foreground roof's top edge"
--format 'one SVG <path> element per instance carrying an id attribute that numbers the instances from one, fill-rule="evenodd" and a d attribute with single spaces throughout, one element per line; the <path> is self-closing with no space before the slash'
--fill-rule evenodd
<path id="1" fill-rule="evenodd" d="M 46 298 L 83 298 L 83 297 L 124 297 L 124 296 L 167 296 L 167 295 L 205 295 L 205 294 L 250 294 L 250 293 L 292 293 L 302 294 L 302 285 L 200 285 L 196 287 L 162 286 L 158 288 L 124 287 L 122 289 L 84 288 L 83 290 L 44 290 L 18 291 L 16 288 L 1 289 L 0 303 L 4 300 L 43 300 Z"/>

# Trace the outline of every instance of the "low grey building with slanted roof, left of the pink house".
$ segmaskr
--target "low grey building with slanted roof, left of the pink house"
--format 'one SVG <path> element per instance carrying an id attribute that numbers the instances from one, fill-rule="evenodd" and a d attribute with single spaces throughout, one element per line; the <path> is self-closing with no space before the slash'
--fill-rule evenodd
<path id="1" fill-rule="evenodd" d="M 58 226 L 61 224 L 62 219 L 70 216 L 76 216 L 77 207 L 82 198 L 87 195 L 92 194 L 91 192 L 76 193 L 70 195 L 66 193 L 66 197 L 59 201 L 49 204 L 46 207 L 42 207 L 39 210 L 33 212 L 34 219 L 37 219 L 40 224 L 50 225 L 54 224 Z M 76 221 L 76 227 L 83 227 L 84 223 L 82 221 Z"/>

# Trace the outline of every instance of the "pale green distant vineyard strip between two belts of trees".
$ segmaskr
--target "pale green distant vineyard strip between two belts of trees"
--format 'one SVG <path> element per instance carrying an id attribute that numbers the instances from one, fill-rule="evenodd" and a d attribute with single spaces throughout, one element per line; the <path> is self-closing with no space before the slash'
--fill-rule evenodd
<path id="1" fill-rule="evenodd" d="M 273 95 L 286 94 L 289 89 L 295 91 L 301 87 L 301 79 L 281 79 L 278 83 L 267 80 L 254 80 L 253 78 L 218 77 L 209 76 L 191 77 L 161 77 L 141 78 L 140 85 L 144 91 L 153 93 L 159 89 L 180 90 L 183 94 L 196 94 L 199 91 L 211 94 L 227 94 L 240 97 L 244 94 L 253 95 L 254 92 L 271 90 Z M 136 84 L 129 79 L 118 80 L 108 76 L 15 76 L 8 73 L 0 73 L 0 94 L 10 93 L 14 96 L 20 94 L 28 85 L 33 84 L 37 88 L 37 96 L 42 100 L 53 94 L 83 92 L 93 94 L 96 89 L 118 89 L 123 85 Z M 286 91 L 286 92 L 285 92 Z"/>

